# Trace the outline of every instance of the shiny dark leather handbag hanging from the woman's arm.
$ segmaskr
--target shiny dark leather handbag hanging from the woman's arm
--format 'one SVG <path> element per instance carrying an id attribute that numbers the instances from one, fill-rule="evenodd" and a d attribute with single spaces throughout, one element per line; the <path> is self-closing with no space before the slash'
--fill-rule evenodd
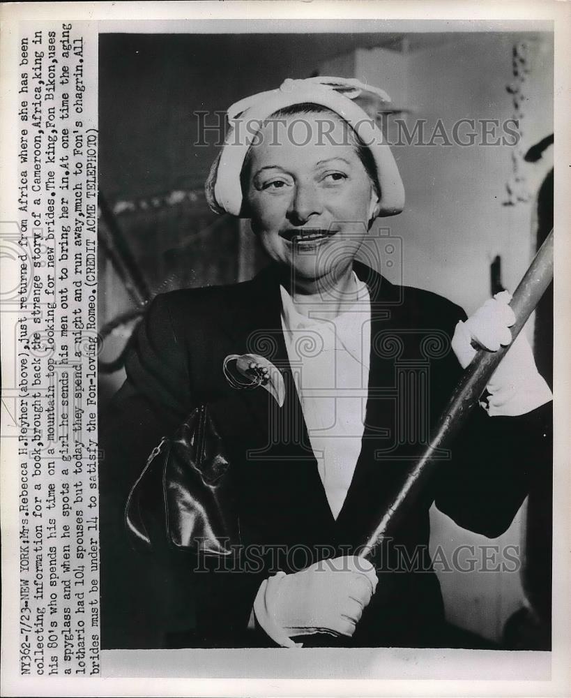
<path id="1" fill-rule="evenodd" d="M 205 404 L 153 449 L 125 506 L 135 547 L 229 556 L 238 543 L 235 490 L 224 443 Z"/>

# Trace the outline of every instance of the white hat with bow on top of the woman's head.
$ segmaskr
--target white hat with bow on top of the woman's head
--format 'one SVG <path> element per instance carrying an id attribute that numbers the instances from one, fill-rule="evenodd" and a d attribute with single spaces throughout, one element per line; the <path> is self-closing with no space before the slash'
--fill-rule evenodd
<path id="1" fill-rule="evenodd" d="M 404 208 L 404 186 L 388 144 L 374 119 L 367 116 L 352 100 L 362 92 L 371 92 L 390 102 L 385 91 L 369 87 L 353 78 L 309 77 L 307 80 L 284 80 L 280 89 L 260 92 L 229 107 L 229 133 L 206 181 L 206 200 L 213 211 L 241 216 L 242 188 L 240 174 L 248 149 L 264 121 L 284 107 L 314 103 L 339 114 L 369 147 L 376 165 L 381 199 L 375 216 L 394 216 Z M 245 124 L 258 124 L 245 128 Z M 241 128 L 242 127 L 242 128 Z M 253 133 L 252 133 L 253 131 Z M 239 133 L 239 137 L 236 137 Z"/>

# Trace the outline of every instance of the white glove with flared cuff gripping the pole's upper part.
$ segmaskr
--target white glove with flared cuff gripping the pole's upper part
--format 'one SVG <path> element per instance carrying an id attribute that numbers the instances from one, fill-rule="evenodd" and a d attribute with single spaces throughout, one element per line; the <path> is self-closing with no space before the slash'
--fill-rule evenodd
<path id="1" fill-rule="evenodd" d="M 512 341 L 509 328 L 515 323 L 515 315 L 508 305 L 511 299 L 508 291 L 496 293 L 466 322 L 458 322 L 452 337 L 452 349 L 463 369 L 475 357 L 474 343 L 489 351 L 497 351 Z M 492 417 L 524 415 L 553 399 L 549 385 L 538 373 L 524 332 L 518 334 L 492 373 L 487 390 L 490 393 L 488 404 L 482 406 Z"/>

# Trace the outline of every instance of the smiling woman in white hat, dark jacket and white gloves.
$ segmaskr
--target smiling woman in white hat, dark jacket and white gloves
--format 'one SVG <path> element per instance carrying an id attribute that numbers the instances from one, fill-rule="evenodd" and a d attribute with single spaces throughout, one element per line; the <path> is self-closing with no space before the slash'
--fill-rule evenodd
<path id="1" fill-rule="evenodd" d="M 176 644 L 192 600 L 196 630 L 183 644 L 446 644 L 429 506 L 495 537 L 545 470 L 551 393 L 521 336 L 395 540 L 372 563 L 356 557 L 473 343 L 497 350 L 513 322 L 503 298 L 466 321 L 356 261 L 374 219 L 404 206 L 390 149 L 353 101 L 367 90 L 388 99 L 354 80 L 287 80 L 229 110 L 208 200 L 250 218 L 271 265 L 238 285 L 158 296 L 139 330 L 102 427 L 102 593 L 120 617 L 104 628 L 107 647 L 122 646 L 133 618 L 152 626 L 151 644 Z M 236 389 L 260 382 L 268 389 Z M 160 585 L 138 615 L 125 610 L 149 570 L 121 579 L 121 514 L 149 452 L 201 403 L 229 452 L 241 552 L 230 571 L 194 572 L 165 554 L 154 574 L 178 613 L 149 620 Z"/>

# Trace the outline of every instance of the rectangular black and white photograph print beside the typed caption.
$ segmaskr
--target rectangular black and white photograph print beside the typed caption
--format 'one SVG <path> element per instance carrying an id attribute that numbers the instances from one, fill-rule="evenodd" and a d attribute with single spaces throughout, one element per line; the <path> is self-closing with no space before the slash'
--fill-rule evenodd
<path id="1" fill-rule="evenodd" d="M 552 80 L 100 35 L 104 647 L 550 648 Z"/>

